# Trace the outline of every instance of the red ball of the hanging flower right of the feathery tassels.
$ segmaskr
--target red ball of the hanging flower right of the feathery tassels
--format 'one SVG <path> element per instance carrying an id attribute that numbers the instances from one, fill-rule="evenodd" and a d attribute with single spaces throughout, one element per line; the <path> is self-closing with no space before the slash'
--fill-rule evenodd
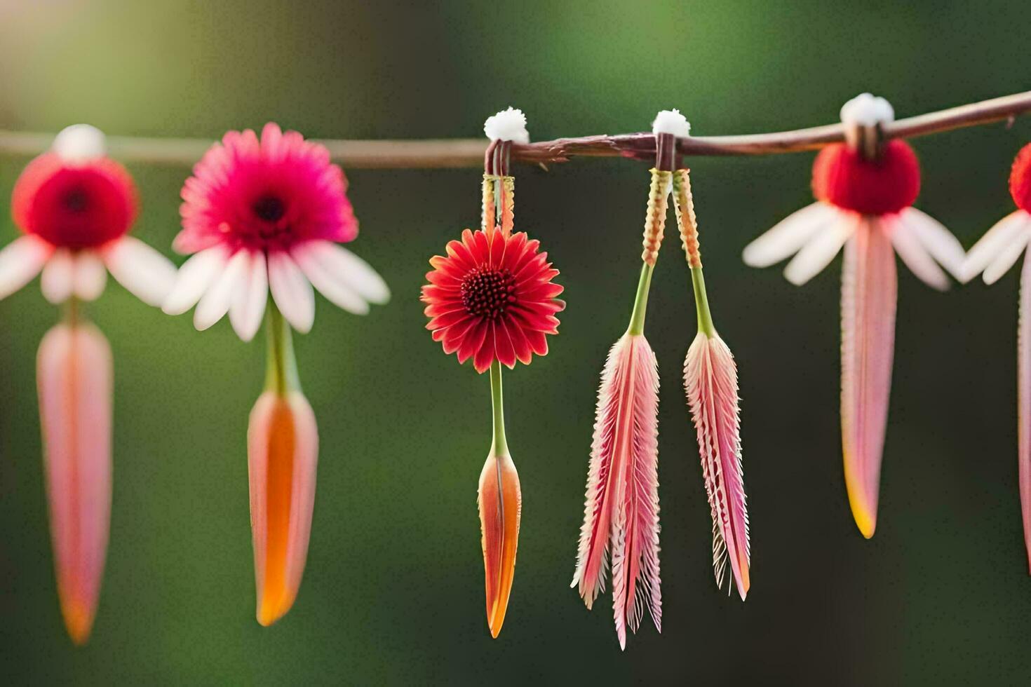
<path id="1" fill-rule="evenodd" d="M 812 194 L 863 214 L 899 212 L 920 194 L 917 153 L 900 140 L 885 143 L 872 161 L 844 143 L 828 145 L 812 163 Z"/>

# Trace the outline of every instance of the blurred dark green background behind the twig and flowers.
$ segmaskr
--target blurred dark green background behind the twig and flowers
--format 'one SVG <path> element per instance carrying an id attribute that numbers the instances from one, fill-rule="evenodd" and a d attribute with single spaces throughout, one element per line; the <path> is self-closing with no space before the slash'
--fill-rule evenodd
<path id="1" fill-rule="evenodd" d="M 862 91 L 906 116 L 1026 90 L 1028 38 L 1019 0 L 0 0 L 0 128 L 89 122 L 214 139 L 274 119 L 312 137 L 470 137 L 512 104 L 537 140 L 639 131 L 667 107 L 699 135 L 775 131 L 833 122 Z M 971 245 L 1010 211 L 1009 163 L 1029 138 L 1025 119 L 914 141 L 918 205 Z M 0 160 L 0 197 L 25 163 Z M 637 279 L 645 166 L 517 169 L 517 227 L 543 241 L 569 307 L 551 354 L 505 379 L 524 508 L 497 641 L 475 510 L 488 379 L 443 355 L 418 300 L 427 259 L 478 220 L 479 173 L 356 170 L 362 234 L 351 247 L 394 301 L 355 317 L 320 299 L 313 331 L 296 340 L 321 465 L 304 583 L 271 628 L 254 619 L 244 448 L 262 338 L 243 344 L 226 321 L 195 332 L 114 282 L 90 308 L 114 351 L 114 502 L 93 639 L 74 649 L 56 599 L 34 382 L 58 312 L 38 282 L 0 302 L 3 682 L 1026 683 L 1017 276 L 941 295 L 900 270 L 880 518 L 864 541 L 840 466 L 840 262 L 795 288 L 739 257 L 810 202 L 810 163 L 690 162 L 713 313 L 740 368 L 747 603 L 712 581 L 680 382 L 695 320 L 672 239 L 646 328 L 664 381 L 664 631 L 645 621 L 621 653 L 609 596 L 589 613 L 567 588 L 598 374 Z M 131 171 L 136 235 L 170 254 L 189 170 Z M 8 214 L 3 243 L 16 235 Z"/>

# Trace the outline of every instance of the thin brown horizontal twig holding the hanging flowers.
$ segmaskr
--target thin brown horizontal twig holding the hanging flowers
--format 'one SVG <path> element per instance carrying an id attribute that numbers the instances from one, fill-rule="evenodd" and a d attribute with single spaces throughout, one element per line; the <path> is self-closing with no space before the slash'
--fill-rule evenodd
<path id="1" fill-rule="evenodd" d="M 885 125 L 888 138 L 925 136 L 1031 112 L 1031 91 L 961 105 Z M 34 156 L 49 147 L 51 134 L 0 131 L 0 154 Z M 677 140 L 684 156 L 762 156 L 813 150 L 844 140 L 840 124 L 744 136 L 691 136 Z M 488 142 L 483 139 L 322 140 L 333 160 L 348 169 L 431 169 L 480 167 Z M 192 165 L 211 141 L 198 138 L 135 138 L 109 136 L 108 149 L 126 162 Z M 511 146 L 511 161 L 535 165 L 568 162 L 571 158 L 655 160 L 655 136 L 648 132 L 618 136 L 583 136 Z"/>

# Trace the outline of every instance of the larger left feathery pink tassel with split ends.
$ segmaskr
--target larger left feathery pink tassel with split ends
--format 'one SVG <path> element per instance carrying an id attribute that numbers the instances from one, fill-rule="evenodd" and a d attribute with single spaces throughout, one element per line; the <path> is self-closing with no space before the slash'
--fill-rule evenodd
<path id="1" fill-rule="evenodd" d="M 590 609 L 604 591 L 611 555 L 612 612 L 620 647 L 647 608 L 662 630 L 659 579 L 659 372 L 642 335 L 608 352 L 598 389 L 587 503 L 570 586 Z"/>

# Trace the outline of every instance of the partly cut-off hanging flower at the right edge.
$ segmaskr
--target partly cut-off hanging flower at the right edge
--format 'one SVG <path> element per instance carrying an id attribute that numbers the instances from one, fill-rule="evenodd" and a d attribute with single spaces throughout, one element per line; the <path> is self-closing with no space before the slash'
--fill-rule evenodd
<path id="1" fill-rule="evenodd" d="M 1021 254 L 1025 254 L 1017 319 L 1017 463 L 1024 544 L 1031 570 L 1031 259 L 1026 255 L 1031 241 L 1031 143 L 1021 148 L 1013 160 L 1009 194 L 1018 209 L 997 221 L 970 248 L 962 276 L 966 281 L 984 272 L 985 283 L 993 284 L 1009 271 Z"/>

